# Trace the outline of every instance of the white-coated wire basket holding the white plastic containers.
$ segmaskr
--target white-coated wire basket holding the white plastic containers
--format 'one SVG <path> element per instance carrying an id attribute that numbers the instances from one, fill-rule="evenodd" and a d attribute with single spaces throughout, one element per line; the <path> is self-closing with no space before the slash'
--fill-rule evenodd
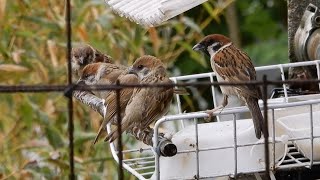
<path id="1" fill-rule="evenodd" d="M 319 63 L 320 60 L 315 60 L 315 61 L 308 61 L 308 62 L 297 62 L 297 63 L 288 63 L 288 64 L 278 64 L 278 65 L 269 65 L 269 66 L 261 66 L 261 67 L 256 67 L 256 71 L 263 71 L 263 70 L 279 70 L 280 72 L 280 76 L 282 80 L 286 80 L 285 79 L 285 70 L 289 67 L 299 67 L 299 66 L 316 66 L 317 69 L 317 74 L 318 74 L 318 80 L 320 79 L 320 68 L 319 68 Z M 203 79 L 203 78 L 207 78 L 210 80 L 210 82 L 214 82 L 214 73 L 202 73 L 202 74 L 194 74 L 194 75 L 186 75 L 186 76 L 177 76 L 177 77 L 172 77 L 171 80 L 173 80 L 175 83 L 177 83 L 178 81 L 187 81 L 187 80 L 195 80 L 195 79 Z M 320 84 L 319 84 L 320 87 Z M 300 102 L 288 102 L 288 93 L 286 91 L 286 85 L 283 84 L 283 88 L 284 88 L 284 98 L 283 98 L 283 102 L 282 103 L 278 103 L 278 104 L 272 104 L 272 105 L 268 105 L 268 110 L 271 111 L 271 115 L 272 115 L 272 124 L 273 124 L 273 134 L 275 134 L 275 117 L 274 117 L 274 111 L 276 109 L 279 108 L 287 108 L 287 107 L 296 107 L 296 106 L 303 106 L 303 105 L 309 105 L 310 107 L 310 113 L 312 114 L 312 108 L 314 105 L 319 104 L 320 103 L 320 99 L 313 99 L 313 100 L 306 100 L 306 101 L 300 101 Z M 216 102 L 216 90 L 215 88 L 211 88 L 211 93 L 212 93 L 212 101 L 214 103 L 214 105 L 217 105 Z M 158 120 L 155 123 L 154 126 L 154 143 L 153 144 L 157 144 L 158 142 L 158 131 L 159 131 L 159 127 L 162 123 L 164 122 L 168 122 L 168 121 L 177 121 L 179 123 L 181 123 L 182 128 L 184 127 L 184 121 L 185 120 L 190 120 L 190 119 L 194 119 L 195 123 L 195 129 L 196 129 L 196 136 L 197 136 L 197 124 L 198 124 L 198 119 L 199 118 L 205 118 L 207 117 L 207 114 L 204 112 L 192 112 L 192 113 L 182 113 L 182 109 L 181 109 L 181 100 L 180 100 L 180 96 L 176 95 L 176 104 L 177 104 L 177 109 L 178 109 L 178 114 L 176 115 L 168 115 L 168 116 L 164 116 L 163 118 L 161 118 L 160 120 Z M 226 115 L 226 114 L 233 114 L 233 121 L 234 121 L 234 127 L 236 127 L 236 113 L 242 113 L 242 112 L 248 112 L 248 109 L 246 107 L 235 107 L 235 108 L 225 108 L 222 112 L 219 112 L 219 115 Z M 312 117 L 312 116 L 311 116 Z M 218 119 L 219 120 L 219 119 Z M 313 124 L 313 118 L 310 119 L 310 126 Z M 310 137 L 305 137 L 302 139 L 310 139 L 311 140 L 311 144 L 310 146 L 313 147 L 313 140 L 315 138 L 320 138 L 320 136 L 312 136 L 313 134 L 313 128 L 311 128 L 311 135 Z M 110 125 L 108 125 L 108 132 L 110 132 Z M 272 138 L 272 137 L 271 137 Z M 215 147 L 215 148 L 207 148 L 207 149 L 199 149 L 197 147 L 195 147 L 195 149 L 192 152 L 196 152 L 197 154 L 200 151 L 209 151 L 209 150 L 214 150 L 214 149 L 227 149 L 227 148 L 234 148 L 234 153 L 235 153 L 235 166 L 234 166 L 234 173 L 233 174 L 220 174 L 219 176 L 234 176 L 238 173 L 256 173 L 255 171 L 248 171 L 248 172 L 237 172 L 237 148 L 238 147 L 242 147 L 242 146 L 249 146 L 249 145 L 253 145 L 253 144 L 245 144 L 245 145 L 237 145 L 236 144 L 236 130 L 234 128 L 234 146 L 231 147 Z M 300 139 L 289 139 L 289 141 L 294 141 L 294 140 L 301 140 Z M 273 140 L 272 142 L 269 142 L 271 146 L 275 146 L 276 140 L 275 137 L 273 136 Z M 263 143 L 261 143 L 263 144 Z M 113 155 L 113 158 L 118 162 L 118 157 L 117 157 L 117 150 L 115 148 L 115 144 L 111 143 L 110 144 L 110 148 L 111 148 L 111 152 Z M 156 148 L 156 147 L 154 147 Z M 307 159 L 305 157 L 299 157 L 296 158 L 297 154 L 299 154 L 299 152 L 297 152 L 295 150 L 294 147 L 292 147 L 292 145 L 289 144 L 289 152 L 287 153 L 287 158 L 280 164 L 277 165 L 276 162 L 273 162 L 273 165 L 271 166 L 271 170 L 279 170 L 279 169 L 290 169 L 290 168 L 295 168 L 295 167 L 312 167 L 313 165 L 318 165 L 320 164 L 320 161 L 314 161 L 313 159 Z M 275 149 L 275 148 L 273 148 Z M 314 153 L 313 148 L 311 148 L 312 150 L 312 154 Z M 179 153 L 188 153 L 190 151 L 178 151 Z M 127 157 L 127 155 L 129 154 L 130 158 L 125 158 Z M 123 167 L 129 171 L 130 173 L 132 173 L 134 176 L 136 176 L 138 179 L 149 179 L 154 173 L 155 173 L 155 177 L 159 178 L 161 176 L 161 173 L 159 171 L 161 164 L 159 163 L 159 155 L 157 155 L 156 153 L 154 153 L 153 148 L 140 148 L 140 149 L 128 149 L 128 150 L 124 150 L 123 151 L 123 155 L 124 155 L 124 160 L 123 160 Z M 275 156 L 275 152 L 273 151 L 273 156 Z M 275 158 L 273 158 L 275 159 Z M 199 159 L 197 159 L 197 163 L 199 164 Z M 261 171 L 264 171 L 264 169 L 261 169 Z M 199 166 L 197 168 L 197 172 L 199 174 Z M 259 172 L 259 171 L 258 171 Z M 219 177 L 219 176 L 215 176 L 215 177 Z M 199 177 L 201 179 L 205 179 L 205 178 L 212 178 L 212 177 Z"/>

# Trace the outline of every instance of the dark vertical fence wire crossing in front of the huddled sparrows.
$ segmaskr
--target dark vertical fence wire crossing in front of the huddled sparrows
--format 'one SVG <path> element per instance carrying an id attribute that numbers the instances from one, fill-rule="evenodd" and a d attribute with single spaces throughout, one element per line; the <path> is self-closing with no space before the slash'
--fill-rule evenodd
<path id="1" fill-rule="evenodd" d="M 117 80 L 116 84 L 119 86 L 120 82 Z M 123 176 L 123 169 L 122 169 L 122 161 L 123 161 L 123 154 L 122 154 L 122 127 L 121 127 L 121 106 L 120 106 L 120 89 L 116 90 L 116 103 L 117 103 L 117 130 L 118 130 L 118 158 L 119 158 L 119 167 L 118 167 L 118 179 L 122 180 Z"/>

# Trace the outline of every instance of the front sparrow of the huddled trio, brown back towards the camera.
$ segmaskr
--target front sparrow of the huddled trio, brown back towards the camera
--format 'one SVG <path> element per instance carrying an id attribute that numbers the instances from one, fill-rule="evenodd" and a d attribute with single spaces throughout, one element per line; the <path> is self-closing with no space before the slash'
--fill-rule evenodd
<path id="1" fill-rule="evenodd" d="M 136 74 L 141 84 L 171 84 L 164 64 L 153 56 L 138 58 L 129 68 L 130 74 Z M 173 87 L 135 88 L 125 109 L 121 123 L 124 131 L 143 131 L 155 120 L 165 115 L 173 99 Z M 118 138 L 117 128 L 105 138 L 113 142 Z"/>

